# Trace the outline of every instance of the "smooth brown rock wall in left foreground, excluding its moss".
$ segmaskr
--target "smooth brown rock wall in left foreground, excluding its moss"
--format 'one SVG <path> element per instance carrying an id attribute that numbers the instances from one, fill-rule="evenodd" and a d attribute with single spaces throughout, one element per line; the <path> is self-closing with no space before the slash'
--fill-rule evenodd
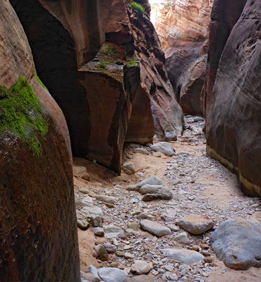
<path id="1" fill-rule="evenodd" d="M 4 66 L 0 87 L 15 85 L 23 75 L 42 103 L 42 118 L 49 123 L 45 137 L 37 135 L 42 148 L 39 157 L 12 130 L 0 128 L 0 277 L 2 281 L 79 281 L 66 121 L 49 92 L 37 82 L 28 40 L 8 1 L 1 2 L 0 14 L 0 61 Z M 3 46 L 16 51 L 7 52 Z M 4 99 L 8 97 L 1 97 Z"/>

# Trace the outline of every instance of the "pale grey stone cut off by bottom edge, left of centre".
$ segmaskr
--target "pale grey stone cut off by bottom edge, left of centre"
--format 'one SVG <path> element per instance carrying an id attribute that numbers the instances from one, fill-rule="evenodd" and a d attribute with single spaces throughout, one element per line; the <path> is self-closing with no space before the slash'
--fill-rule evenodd
<path id="1" fill-rule="evenodd" d="M 102 267 L 98 269 L 98 274 L 104 282 L 125 282 L 128 278 L 126 271 L 114 267 Z"/>

